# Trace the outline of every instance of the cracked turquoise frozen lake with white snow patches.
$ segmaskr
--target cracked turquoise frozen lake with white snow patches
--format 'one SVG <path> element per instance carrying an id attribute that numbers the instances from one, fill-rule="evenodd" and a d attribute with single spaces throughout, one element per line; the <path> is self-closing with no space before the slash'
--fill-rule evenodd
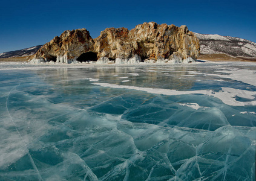
<path id="1" fill-rule="evenodd" d="M 0 63 L 0 180 L 255 180 L 256 63 Z"/>

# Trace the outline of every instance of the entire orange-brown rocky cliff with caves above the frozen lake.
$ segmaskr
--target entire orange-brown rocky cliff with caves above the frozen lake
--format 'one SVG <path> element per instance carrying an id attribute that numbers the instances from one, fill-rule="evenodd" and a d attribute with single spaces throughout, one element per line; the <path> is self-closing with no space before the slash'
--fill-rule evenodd
<path id="1" fill-rule="evenodd" d="M 145 59 L 187 59 L 199 57 L 199 39 L 183 25 L 158 25 L 155 22 L 137 25 L 129 31 L 127 28 L 107 28 L 96 39 L 83 28 L 64 31 L 60 37 L 46 43 L 34 55 L 34 59 L 53 60 L 54 62 L 70 63 L 81 57 L 93 59 L 129 60 L 136 54 Z M 137 58 L 139 59 L 139 58 Z"/>

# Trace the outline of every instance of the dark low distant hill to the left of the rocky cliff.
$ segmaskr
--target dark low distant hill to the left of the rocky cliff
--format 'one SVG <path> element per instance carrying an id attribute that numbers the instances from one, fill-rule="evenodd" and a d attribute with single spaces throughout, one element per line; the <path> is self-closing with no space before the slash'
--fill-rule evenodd
<path id="1" fill-rule="evenodd" d="M 30 48 L 20 49 L 16 51 L 8 51 L 0 54 L 0 58 L 13 58 L 13 57 L 25 57 L 35 54 L 42 45 L 33 46 Z"/>

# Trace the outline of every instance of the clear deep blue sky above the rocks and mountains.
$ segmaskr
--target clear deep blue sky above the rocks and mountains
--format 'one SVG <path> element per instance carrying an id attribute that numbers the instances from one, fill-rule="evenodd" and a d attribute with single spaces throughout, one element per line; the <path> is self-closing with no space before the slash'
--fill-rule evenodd
<path id="1" fill-rule="evenodd" d="M 256 42 L 256 1 L 8 0 L 0 4 L 0 53 L 42 45 L 64 30 L 131 30 L 143 22 L 187 25 L 193 32 Z"/>

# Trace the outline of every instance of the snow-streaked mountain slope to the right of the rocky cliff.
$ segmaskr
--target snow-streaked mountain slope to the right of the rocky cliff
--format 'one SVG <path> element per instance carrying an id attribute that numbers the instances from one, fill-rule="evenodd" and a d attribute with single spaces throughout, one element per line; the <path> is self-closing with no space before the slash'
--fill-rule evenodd
<path id="1" fill-rule="evenodd" d="M 200 54 L 228 54 L 234 57 L 256 57 L 256 43 L 218 34 L 194 33 L 200 40 Z"/>

